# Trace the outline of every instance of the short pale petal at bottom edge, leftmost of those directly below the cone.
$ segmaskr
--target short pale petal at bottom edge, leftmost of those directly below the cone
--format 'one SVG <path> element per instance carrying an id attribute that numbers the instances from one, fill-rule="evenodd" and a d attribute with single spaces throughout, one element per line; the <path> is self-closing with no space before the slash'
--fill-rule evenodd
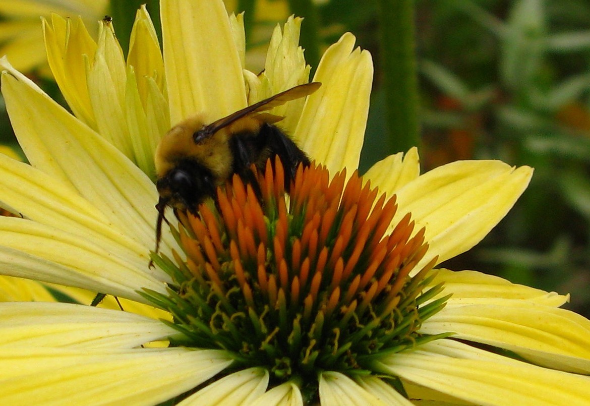
<path id="1" fill-rule="evenodd" d="M 268 371 L 264 368 L 242 369 L 212 382 L 178 405 L 250 405 L 264 394 L 268 379 Z"/>

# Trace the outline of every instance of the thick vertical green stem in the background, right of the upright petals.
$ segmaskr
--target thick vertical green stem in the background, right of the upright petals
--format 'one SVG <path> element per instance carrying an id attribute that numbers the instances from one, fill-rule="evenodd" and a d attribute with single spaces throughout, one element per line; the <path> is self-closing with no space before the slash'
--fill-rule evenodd
<path id="1" fill-rule="evenodd" d="M 419 147 L 414 0 L 378 0 L 385 111 L 391 152 Z"/>

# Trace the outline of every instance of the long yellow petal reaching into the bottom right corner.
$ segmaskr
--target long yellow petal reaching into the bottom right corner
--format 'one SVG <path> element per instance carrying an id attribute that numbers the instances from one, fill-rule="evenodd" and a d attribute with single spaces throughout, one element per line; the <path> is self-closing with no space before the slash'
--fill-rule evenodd
<path id="1" fill-rule="evenodd" d="M 589 376 L 530 365 L 448 339 L 384 357 L 375 366 L 474 404 L 579 405 L 590 399 Z"/>

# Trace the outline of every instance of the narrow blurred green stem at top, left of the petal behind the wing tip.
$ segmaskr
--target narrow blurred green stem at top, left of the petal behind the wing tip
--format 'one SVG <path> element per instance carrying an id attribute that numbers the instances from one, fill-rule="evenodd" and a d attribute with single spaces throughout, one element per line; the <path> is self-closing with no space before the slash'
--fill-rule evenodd
<path id="1" fill-rule="evenodd" d="M 320 63 L 319 15 L 312 0 L 289 0 L 289 8 L 296 17 L 303 17 L 299 43 L 305 50 L 305 60 L 312 67 L 310 77 Z"/>

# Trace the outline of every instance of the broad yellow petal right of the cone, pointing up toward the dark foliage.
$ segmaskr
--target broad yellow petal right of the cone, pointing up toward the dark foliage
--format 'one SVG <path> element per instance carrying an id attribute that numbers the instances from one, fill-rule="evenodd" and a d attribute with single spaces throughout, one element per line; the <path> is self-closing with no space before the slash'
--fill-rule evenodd
<path id="1" fill-rule="evenodd" d="M 415 231 L 426 228 L 428 253 L 418 269 L 438 263 L 479 243 L 512 208 L 533 170 L 500 161 L 457 161 L 432 169 L 396 191 L 398 211 L 389 231 L 408 212 Z"/>

